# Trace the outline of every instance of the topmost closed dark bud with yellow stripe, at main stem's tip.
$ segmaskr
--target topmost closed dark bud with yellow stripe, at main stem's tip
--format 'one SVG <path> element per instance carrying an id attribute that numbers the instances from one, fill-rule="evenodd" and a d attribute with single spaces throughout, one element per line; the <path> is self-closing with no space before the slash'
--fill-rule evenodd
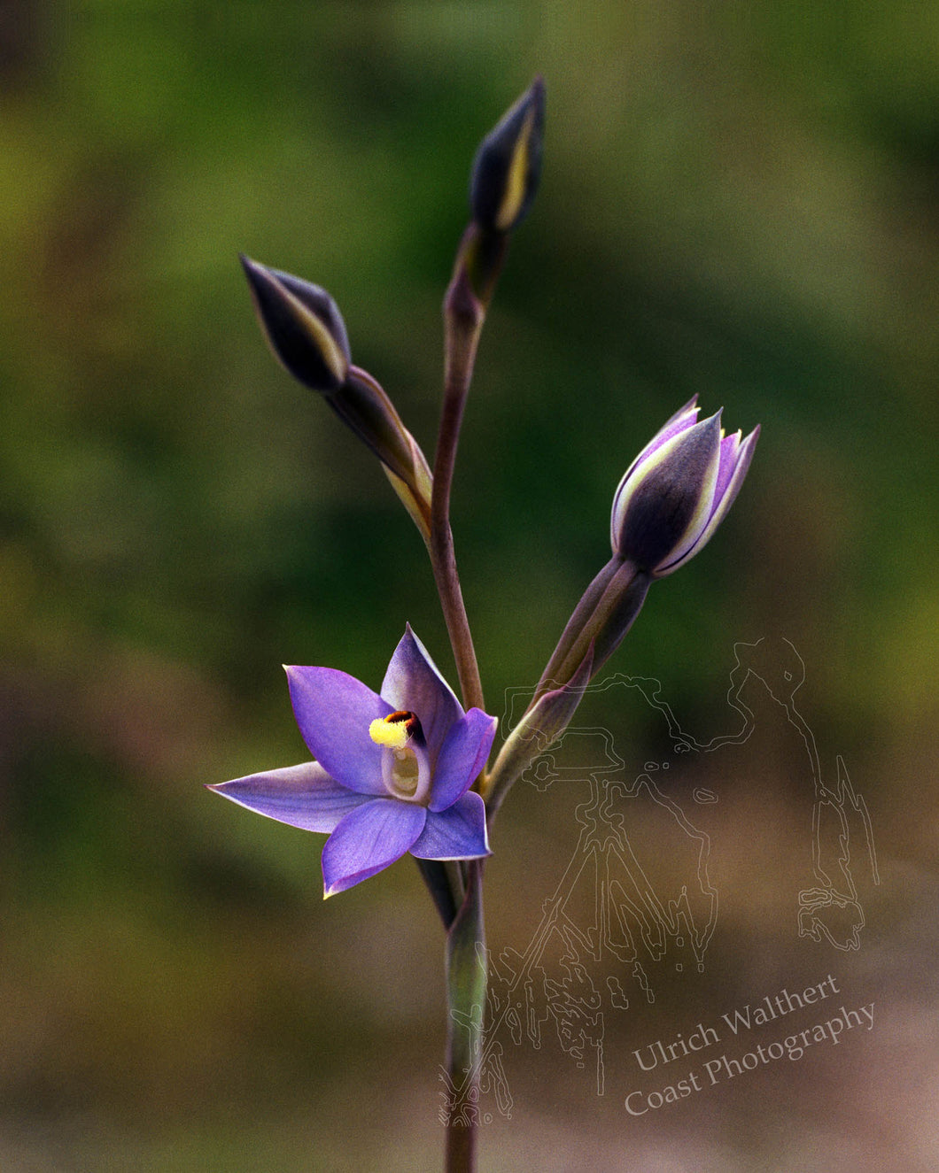
<path id="1" fill-rule="evenodd" d="M 473 162 L 470 204 L 489 232 L 508 232 L 525 218 L 541 175 L 545 82 L 531 87 L 482 140 Z"/>

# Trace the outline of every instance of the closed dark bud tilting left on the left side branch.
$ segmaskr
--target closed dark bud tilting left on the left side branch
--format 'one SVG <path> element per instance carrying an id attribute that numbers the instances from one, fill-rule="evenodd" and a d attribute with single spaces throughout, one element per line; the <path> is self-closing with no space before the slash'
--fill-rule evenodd
<path id="1" fill-rule="evenodd" d="M 271 350 L 295 379 L 329 394 L 351 361 L 342 314 L 318 285 L 242 257 L 251 297 Z"/>

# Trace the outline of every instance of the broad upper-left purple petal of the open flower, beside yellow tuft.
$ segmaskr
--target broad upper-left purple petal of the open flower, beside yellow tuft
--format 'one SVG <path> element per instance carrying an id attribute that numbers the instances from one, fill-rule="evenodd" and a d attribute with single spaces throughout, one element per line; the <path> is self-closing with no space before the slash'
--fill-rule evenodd
<path id="1" fill-rule="evenodd" d="M 376 717 L 392 710 L 371 689 L 331 667 L 288 667 L 290 700 L 310 753 L 340 785 L 386 794 L 381 748 L 369 737 Z"/>

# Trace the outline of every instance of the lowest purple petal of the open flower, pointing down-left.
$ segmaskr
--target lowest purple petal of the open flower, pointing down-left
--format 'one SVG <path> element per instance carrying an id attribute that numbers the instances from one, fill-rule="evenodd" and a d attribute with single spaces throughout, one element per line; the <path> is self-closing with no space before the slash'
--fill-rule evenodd
<path id="1" fill-rule="evenodd" d="M 373 799 L 350 812 L 323 848 L 323 897 L 399 860 L 420 836 L 427 811 L 414 802 Z"/>

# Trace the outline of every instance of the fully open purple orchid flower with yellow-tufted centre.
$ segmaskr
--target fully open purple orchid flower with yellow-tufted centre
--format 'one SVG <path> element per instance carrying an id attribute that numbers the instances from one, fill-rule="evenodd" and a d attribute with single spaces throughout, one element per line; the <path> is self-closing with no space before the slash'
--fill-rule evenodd
<path id="1" fill-rule="evenodd" d="M 470 787 L 496 718 L 462 711 L 410 625 L 380 694 L 330 667 L 288 667 L 286 676 L 316 761 L 208 788 L 269 819 L 326 832 L 324 899 L 405 852 L 421 860 L 489 854 L 486 808 Z"/>

